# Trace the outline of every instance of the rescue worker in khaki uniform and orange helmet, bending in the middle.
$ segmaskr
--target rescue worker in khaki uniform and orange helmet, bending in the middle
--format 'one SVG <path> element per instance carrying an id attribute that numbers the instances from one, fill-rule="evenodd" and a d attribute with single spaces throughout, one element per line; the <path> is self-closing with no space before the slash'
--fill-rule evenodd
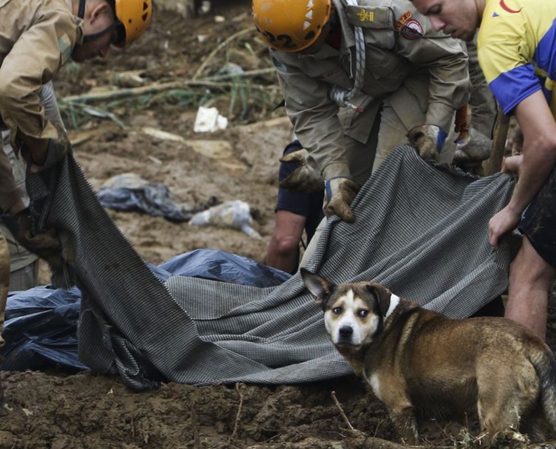
<path id="1" fill-rule="evenodd" d="M 325 214 L 353 221 L 359 186 L 409 130 L 436 125 L 441 149 L 469 99 L 468 57 L 406 0 L 253 0 L 252 7 L 287 115 L 324 178 Z M 297 181 L 283 186 L 306 188 Z"/>

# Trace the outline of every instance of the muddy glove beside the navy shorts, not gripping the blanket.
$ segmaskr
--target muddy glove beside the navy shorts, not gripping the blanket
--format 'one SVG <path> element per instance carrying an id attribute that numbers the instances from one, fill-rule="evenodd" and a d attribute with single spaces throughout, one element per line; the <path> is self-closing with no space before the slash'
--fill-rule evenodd
<path id="1" fill-rule="evenodd" d="M 280 181 L 280 187 L 292 192 L 310 193 L 322 190 L 324 178 L 316 169 L 315 162 L 309 159 L 309 151 L 302 148 L 282 156 L 280 162 L 286 164 L 299 164 L 289 176 Z"/>

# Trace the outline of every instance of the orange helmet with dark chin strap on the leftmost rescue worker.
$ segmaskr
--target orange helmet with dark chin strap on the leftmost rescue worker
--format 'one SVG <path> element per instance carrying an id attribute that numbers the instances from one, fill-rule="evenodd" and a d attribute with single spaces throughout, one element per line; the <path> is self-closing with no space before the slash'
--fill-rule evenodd
<path id="1" fill-rule="evenodd" d="M 152 0 L 115 0 L 114 13 L 120 22 L 117 47 L 127 47 L 147 28 L 152 17 Z M 118 24 L 119 25 L 119 24 Z"/>

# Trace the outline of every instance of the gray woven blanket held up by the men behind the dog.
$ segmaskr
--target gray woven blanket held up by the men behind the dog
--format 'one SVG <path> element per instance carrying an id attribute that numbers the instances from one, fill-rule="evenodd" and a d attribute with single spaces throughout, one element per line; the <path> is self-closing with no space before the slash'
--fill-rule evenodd
<path id="1" fill-rule="evenodd" d="M 300 274 L 255 288 L 173 277 L 162 284 L 98 203 L 69 155 L 28 174 L 39 225 L 60 229 L 68 267 L 54 280 L 82 290 L 81 362 L 135 390 L 160 381 L 297 383 L 351 373 L 326 336 Z M 356 221 L 328 221 L 307 268 L 334 282 L 375 280 L 395 294 L 465 317 L 507 288 L 509 251 L 488 244 L 509 176 L 481 179 L 396 147 L 353 203 Z M 73 248 L 69 251 L 69 248 Z"/>

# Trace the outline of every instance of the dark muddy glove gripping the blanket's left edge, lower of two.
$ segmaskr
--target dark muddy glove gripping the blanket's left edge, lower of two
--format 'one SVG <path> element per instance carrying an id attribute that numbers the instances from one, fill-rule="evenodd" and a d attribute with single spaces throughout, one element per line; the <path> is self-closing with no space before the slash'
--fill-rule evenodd
<path id="1" fill-rule="evenodd" d="M 63 267 L 62 245 L 58 234 L 53 229 L 33 232 L 33 219 L 29 209 L 23 209 L 15 215 L 3 215 L 2 220 L 8 226 L 14 238 L 31 253 L 48 262 L 52 272 Z"/>

